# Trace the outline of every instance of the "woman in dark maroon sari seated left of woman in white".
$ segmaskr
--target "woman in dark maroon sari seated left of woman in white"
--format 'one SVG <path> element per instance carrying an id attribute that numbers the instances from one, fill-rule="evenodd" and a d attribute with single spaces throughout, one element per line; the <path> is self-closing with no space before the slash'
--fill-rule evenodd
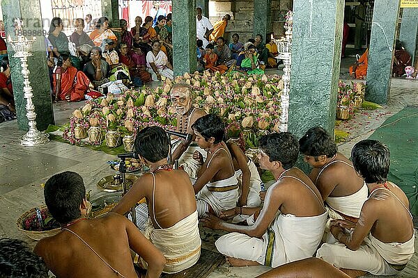
<path id="1" fill-rule="evenodd" d="M 121 54 L 119 55 L 119 62 L 123 63 L 129 69 L 130 77 L 134 85 L 139 84 L 135 82 L 135 77 L 141 79 L 141 83 L 146 83 L 151 80 L 151 74 L 146 71 L 146 61 L 137 60 L 131 55 L 132 52 L 129 51 L 127 44 L 124 42 L 121 43 Z"/>

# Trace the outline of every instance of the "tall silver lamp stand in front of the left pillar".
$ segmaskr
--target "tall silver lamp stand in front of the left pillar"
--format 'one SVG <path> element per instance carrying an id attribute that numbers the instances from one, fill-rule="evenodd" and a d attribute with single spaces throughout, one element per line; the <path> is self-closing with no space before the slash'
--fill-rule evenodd
<path id="1" fill-rule="evenodd" d="M 18 26 L 19 27 L 19 26 Z M 22 30 L 22 26 L 20 26 L 20 30 Z M 29 131 L 22 136 L 20 140 L 20 145 L 23 146 L 36 146 L 42 145 L 49 142 L 49 138 L 45 133 L 41 133 L 36 128 L 36 113 L 35 113 L 35 106 L 33 106 L 33 93 L 31 82 L 29 81 L 29 70 L 28 70 L 28 57 L 32 56 L 31 48 L 33 42 L 36 40 L 34 37 L 33 40 L 28 40 L 24 35 L 22 35 L 22 31 L 19 31 L 17 28 L 17 40 L 12 40 L 10 35 L 8 36 L 8 41 L 10 42 L 15 54 L 13 57 L 20 58 L 20 62 L 22 65 L 22 76 L 24 78 L 24 98 L 26 99 L 26 117 L 28 118 L 29 122 Z"/>

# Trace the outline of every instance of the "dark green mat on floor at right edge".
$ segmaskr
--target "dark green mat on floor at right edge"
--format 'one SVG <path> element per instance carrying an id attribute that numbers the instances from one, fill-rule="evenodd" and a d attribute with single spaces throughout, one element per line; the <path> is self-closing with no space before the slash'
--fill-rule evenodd
<path id="1" fill-rule="evenodd" d="M 408 107 L 386 120 L 369 139 L 390 149 L 389 181 L 408 196 L 410 210 L 418 215 L 418 108 Z"/>

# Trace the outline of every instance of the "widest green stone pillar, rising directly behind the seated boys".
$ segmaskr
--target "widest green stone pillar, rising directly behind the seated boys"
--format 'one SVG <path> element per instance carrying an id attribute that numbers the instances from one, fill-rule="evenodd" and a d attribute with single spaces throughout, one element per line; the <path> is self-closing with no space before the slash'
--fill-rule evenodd
<path id="1" fill-rule="evenodd" d="M 288 129 L 298 137 L 317 125 L 334 134 L 339 83 L 344 0 L 309 3 L 293 1 Z"/>

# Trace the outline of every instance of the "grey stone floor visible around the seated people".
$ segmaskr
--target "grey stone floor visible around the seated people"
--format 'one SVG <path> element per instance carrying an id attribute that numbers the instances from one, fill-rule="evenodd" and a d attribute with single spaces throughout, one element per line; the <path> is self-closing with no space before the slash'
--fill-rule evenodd
<path id="1" fill-rule="evenodd" d="M 353 60 L 353 57 L 343 58 L 341 78 L 348 76 L 348 65 L 353 63 Z M 54 104 L 56 124 L 67 122 L 72 111 L 82 104 L 66 102 Z M 377 111 L 357 113 L 352 120 L 341 124 L 342 129 L 350 132 L 350 136 L 347 142 L 339 145 L 339 149 L 349 155 L 355 142 L 368 138 L 388 117 L 411 105 L 418 106 L 418 81 L 392 79 L 387 107 Z M 114 174 L 114 170 L 111 170 L 106 162 L 116 157 L 56 141 L 38 147 L 22 147 L 19 140 L 22 135 L 23 132 L 17 129 L 16 121 L 0 124 L 0 208 L 3 211 L 0 215 L 0 238 L 20 238 L 34 246 L 36 242 L 17 229 L 15 223 L 22 213 L 44 203 L 41 183 L 45 183 L 52 174 L 72 170 L 81 174 L 86 189 L 92 190 L 92 195 L 97 195 L 100 190 L 96 187 L 96 183 L 102 177 Z M 213 243 L 219 234 L 203 229 L 202 235 L 203 247 L 215 250 Z M 415 277 L 417 262 L 418 258 L 415 254 L 408 268 L 397 277 Z M 269 268 L 265 266 L 231 268 L 222 265 L 210 273 L 209 277 L 256 277 L 267 270 Z M 373 276 L 366 275 L 366 277 Z"/>

